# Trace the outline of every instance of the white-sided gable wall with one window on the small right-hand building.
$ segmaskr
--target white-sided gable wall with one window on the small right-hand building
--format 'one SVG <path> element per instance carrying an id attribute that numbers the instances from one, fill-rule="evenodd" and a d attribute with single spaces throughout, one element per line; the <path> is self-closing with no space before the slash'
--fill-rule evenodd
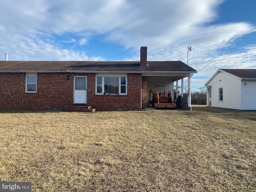
<path id="1" fill-rule="evenodd" d="M 240 78 L 219 72 L 207 86 L 212 86 L 212 107 L 241 109 Z M 219 88 L 223 88 L 223 102 L 219 102 Z"/>

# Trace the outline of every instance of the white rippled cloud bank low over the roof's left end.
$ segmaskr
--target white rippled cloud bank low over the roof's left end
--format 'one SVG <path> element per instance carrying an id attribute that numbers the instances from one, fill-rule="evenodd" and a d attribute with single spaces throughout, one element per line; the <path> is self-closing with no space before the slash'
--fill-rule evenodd
<path id="1" fill-rule="evenodd" d="M 60 48 L 52 40 L 42 40 L 38 36 L 9 34 L 4 38 L 8 41 L 0 45 L 0 50 L 8 47 L 8 60 L 104 60 L 101 57 L 88 57 L 84 52 Z"/>

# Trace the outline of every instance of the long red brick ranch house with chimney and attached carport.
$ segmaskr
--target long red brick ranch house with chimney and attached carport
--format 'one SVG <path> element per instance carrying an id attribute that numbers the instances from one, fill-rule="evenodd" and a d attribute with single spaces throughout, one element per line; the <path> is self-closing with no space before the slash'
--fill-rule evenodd
<path id="1" fill-rule="evenodd" d="M 147 47 L 140 62 L 0 61 L 0 110 L 141 110 L 150 89 L 174 95 L 174 82 L 194 73 L 181 61 L 147 61 Z"/>

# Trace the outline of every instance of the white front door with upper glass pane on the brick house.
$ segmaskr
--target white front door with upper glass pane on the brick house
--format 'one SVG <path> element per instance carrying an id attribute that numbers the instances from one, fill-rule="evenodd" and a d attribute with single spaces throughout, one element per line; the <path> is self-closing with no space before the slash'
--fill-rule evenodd
<path id="1" fill-rule="evenodd" d="M 74 103 L 87 103 L 86 76 L 74 76 Z"/>

